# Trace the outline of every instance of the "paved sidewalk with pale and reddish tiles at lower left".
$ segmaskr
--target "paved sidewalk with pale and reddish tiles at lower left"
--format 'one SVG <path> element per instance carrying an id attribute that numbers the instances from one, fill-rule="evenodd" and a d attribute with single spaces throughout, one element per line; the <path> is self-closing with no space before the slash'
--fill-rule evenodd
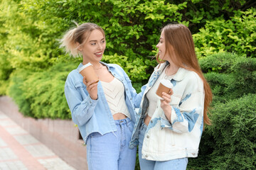
<path id="1" fill-rule="evenodd" d="M 75 170 L 0 111 L 0 170 Z"/>

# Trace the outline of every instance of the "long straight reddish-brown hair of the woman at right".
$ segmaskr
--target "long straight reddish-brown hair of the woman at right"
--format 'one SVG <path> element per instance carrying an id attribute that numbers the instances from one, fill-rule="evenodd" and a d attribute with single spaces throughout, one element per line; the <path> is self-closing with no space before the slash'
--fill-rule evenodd
<path id="1" fill-rule="evenodd" d="M 203 122 L 210 125 L 210 118 L 208 118 L 208 107 L 213 99 L 213 94 L 210 90 L 210 86 L 203 77 L 203 72 L 198 64 L 198 60 L 195 52 L 195 45 L 191 31 L 182 24 L 169 24 L 162 28 L 161 32 L 164 31 L 164 39 L 166 43 L 166 52 L 169 52 L 171 61 L 174 62 L 178 67 L 191 70 L 196 72 L 199 77 L 203 80 L 203 89 L 205 91 L 204 108 L 203 108 Z M 174 47 L 176 57 L 174 58 L 170 54 L 170 45 Z M 159 54 L 156 55 L 156 60 L 159 61 Z"/>

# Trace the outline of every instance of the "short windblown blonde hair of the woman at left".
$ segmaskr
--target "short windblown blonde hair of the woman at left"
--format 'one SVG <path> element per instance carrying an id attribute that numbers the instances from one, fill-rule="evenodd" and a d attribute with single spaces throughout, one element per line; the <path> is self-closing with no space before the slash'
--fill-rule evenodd
<path id="1" fill-rule="evenodd" d="M 75 21 L 73 22 L 75 23 Z M 105 33 L 104 30 L 95 23 L 82 23 L 80 26 L 78 23 L 75 24 L 77 28 L 71 28 L 65 33 L 60 40 L 60 47 L 65 47 L 65 52 L 73 57 L 78 57 L 80 55 L 80 50 L 78 50 L 78 48 L 86 42 L 90 33 L 92 33 L 92 30 L 100 30 L 104 37 Z"/>

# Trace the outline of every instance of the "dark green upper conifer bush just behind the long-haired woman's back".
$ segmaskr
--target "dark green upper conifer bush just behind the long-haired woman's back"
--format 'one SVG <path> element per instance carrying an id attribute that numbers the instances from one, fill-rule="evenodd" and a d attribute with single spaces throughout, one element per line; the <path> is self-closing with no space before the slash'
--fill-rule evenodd
<path id="1" fill-rule="evenodd" d="M 255 94 L 256 58 L 219 53 L 199 60 L 213 91 L 213 103 Z"/>

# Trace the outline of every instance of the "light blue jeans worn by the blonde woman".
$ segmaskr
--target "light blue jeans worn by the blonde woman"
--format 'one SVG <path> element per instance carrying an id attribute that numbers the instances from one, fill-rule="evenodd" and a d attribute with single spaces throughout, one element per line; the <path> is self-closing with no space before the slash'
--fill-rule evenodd
<path id="1" fill-rule="evenodd" d="M 134 170 L 137 148 L 129 149 L 134 123 L 129 118 L 114 123 L 117 131 L 89 135 L 86 145 L 89 170 Z"/>

